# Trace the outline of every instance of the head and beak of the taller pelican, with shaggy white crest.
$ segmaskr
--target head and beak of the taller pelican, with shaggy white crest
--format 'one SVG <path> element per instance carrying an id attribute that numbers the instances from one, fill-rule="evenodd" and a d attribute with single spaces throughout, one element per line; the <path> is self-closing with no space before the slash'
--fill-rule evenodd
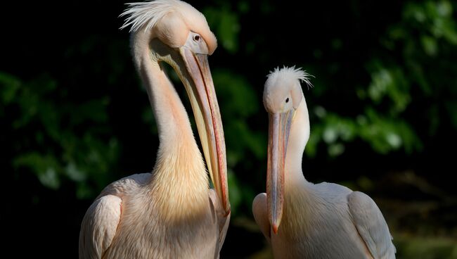
<path id="1" fill-rule="evenodd" d="M 183 82 L 214 189 L 229 213 L 224 131 L 207 59 L 217 48 L 217 40 L 205 16 L 179 0 L 129 4 L 122 15 L 127 18 L 121 29 L 131 26 L 137 68 L 144 69 L 144 58 L 152 59 L 155 64 L 165 62 Z"/>

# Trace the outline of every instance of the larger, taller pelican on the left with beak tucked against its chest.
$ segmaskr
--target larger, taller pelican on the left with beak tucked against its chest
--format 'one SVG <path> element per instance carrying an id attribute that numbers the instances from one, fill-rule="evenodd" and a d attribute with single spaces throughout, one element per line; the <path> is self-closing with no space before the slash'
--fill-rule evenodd
<path id="1" fill-rule="evenodd" d="M 129 4 L 131 51 L 152 104 L 160 146 L 152 174 L 105 187 L 87 210 L 79 258 L 218 258 L 230 217 L 226 151 L 207 56 L 217 42 L 205 17 L 183 1 Z M 162 68 L 186 88 L 214 189 L 186 110 Z"/>

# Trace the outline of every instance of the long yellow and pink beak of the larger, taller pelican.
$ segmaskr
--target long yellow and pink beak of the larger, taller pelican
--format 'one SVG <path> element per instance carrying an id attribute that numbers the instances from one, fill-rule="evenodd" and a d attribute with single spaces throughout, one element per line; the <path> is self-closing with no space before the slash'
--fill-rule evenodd
<path id="1" fill-rule="evenodd" d="M 186 72 L 181 75 L 187 88 L 208 171 L 226 215 L 230 213 L 227 187 L 227 165 L 224 130 L 219 104 L 206 54 L 198 54 L 187 47 L 179 48 Z M 188 82 L 186 84 L 186 82 Z"/>

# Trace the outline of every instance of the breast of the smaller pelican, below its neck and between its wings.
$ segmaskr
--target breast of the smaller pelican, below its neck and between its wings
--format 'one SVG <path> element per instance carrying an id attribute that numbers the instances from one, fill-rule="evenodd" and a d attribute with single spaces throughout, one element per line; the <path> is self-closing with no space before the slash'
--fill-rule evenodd
<path id="1" fill-rule="evenodd" d="M 349 212 L 351 190 L 326 182 L 294 187 L 285 189 L 281 227 L 271 234 L 275 258 L 372 258 Z"/>

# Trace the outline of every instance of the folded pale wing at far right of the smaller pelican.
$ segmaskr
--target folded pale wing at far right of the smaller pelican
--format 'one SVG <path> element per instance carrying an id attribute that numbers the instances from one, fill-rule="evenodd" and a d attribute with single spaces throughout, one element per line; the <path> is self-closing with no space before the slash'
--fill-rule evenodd
<path id="1" fill-rule="evenodd" d="M 389 227 L 373 199 L 360 191 L 353 191 L 348 196 L 348 204 L 354 225 L 373 258 L 395 258 Z"/>

